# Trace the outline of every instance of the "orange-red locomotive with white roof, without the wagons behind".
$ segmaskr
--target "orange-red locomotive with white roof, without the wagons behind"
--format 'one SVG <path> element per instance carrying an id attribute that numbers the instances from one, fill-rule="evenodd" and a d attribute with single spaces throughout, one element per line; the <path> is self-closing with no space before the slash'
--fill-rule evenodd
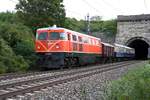
<path id="1" fill-rule="evenodd" d="M 46 68 L 96 63 L 102 56 L 99 38 L 59 27 L 38 29 L 35 45 Z"/>

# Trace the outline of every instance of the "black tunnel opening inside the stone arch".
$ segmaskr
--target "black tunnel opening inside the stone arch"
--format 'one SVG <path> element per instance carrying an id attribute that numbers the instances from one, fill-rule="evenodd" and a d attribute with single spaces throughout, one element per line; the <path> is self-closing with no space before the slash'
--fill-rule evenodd
<path id="1" fill-rule="evenodd" d="M 144 40 L 134 40 L 128 46 L 135 49 L 135 59 L 145 60 L 148 58 L 149 45 Z"/>

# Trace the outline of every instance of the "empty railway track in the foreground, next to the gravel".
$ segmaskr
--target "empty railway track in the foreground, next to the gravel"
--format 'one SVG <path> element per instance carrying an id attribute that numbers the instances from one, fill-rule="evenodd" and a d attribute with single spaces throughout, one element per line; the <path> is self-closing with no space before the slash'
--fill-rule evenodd
<path id="1" fill-rule="evenodd" d="M 139 62 L 139 61 L 138 61 Z M 74 81 L 91 75 L 110 71 L 127 65 L 135 64 L 136 61 L 120 62 L 91 68 L 83 68 L 78 70 L 64 71 L 60 73 L 46 73 L 35 76 L 21 77 L 12 79 L 9 82 L 0 82 L 0 99 L 6 99 L 25 93 L 31 93 L 46 87 Z"/>

